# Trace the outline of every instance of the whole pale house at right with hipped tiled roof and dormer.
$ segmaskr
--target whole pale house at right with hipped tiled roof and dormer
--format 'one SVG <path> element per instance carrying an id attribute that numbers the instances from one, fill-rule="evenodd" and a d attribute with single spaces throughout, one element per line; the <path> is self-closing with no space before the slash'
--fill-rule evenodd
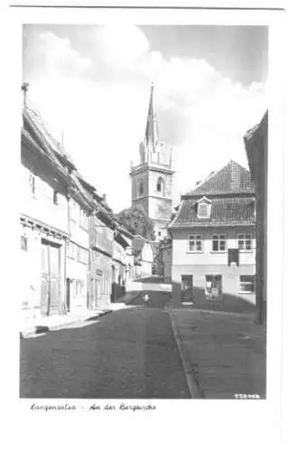
<path id="1" fill-rule="evenodd" d="M 170 225 L 174 300 L 255 304 L 255 186 L 233 162 L 181 196 Z"/>

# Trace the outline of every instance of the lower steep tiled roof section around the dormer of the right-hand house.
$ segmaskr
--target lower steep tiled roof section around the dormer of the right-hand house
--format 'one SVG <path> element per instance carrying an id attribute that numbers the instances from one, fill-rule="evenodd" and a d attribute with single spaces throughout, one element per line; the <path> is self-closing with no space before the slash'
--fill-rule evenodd
<path id="1" fill-rule="evenodd" d="M 255 197 L 253 195 L 212 198 L 209 219 L 198 218 L 195 199 L 184 199 L 171 228 L 237 224 L 255 225 Z"/>

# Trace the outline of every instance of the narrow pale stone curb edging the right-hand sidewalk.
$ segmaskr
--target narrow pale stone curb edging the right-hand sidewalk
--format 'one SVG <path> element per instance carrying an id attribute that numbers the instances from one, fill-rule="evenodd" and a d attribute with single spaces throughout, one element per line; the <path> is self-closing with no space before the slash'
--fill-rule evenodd
<path id="1" fill-rule="evenodd" d="M 183 367 L 183 372 L 187 381 L 188 389 L 190 391 L 191 399 L 204 399 L 204 393 L 200 390 L 199 383 L 195 378 L 194 370 L 190 368 L 190 360 L 188 359 L 187 354 L 184 352 L 183 342 L 181 340 L 181 335 L 178 333 L 177 328 L 174 323 L 172 309 L 166 309 L 166 312 L 170 316 L 172 331 L 174 334 L 174 339 L 177 344 L 178 352 L 181 358 L 181 364 Z"/>

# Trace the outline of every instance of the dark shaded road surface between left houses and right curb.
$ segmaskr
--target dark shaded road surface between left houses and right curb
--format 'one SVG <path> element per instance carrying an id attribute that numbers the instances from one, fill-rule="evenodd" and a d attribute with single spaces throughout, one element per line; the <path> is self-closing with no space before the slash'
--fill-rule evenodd
<path id="1" fill-rule="evenodd" d="M 160 300 L 152 307 L 153 300 Z M 190 393 L 160 307 L 135 306 L 95 322 L 21 340 L 20 397 L 188 399 Z M 141 298 L 136 305 L 141 305 Z"/>

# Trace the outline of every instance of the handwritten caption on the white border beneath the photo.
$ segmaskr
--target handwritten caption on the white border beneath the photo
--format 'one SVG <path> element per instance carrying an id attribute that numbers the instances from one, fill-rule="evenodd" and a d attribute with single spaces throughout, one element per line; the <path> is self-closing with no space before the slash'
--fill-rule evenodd
<path id="1" fill-rule="evenodd" d="M 92 405 L 88 405 L 86 407 L 79 405 L 70 405 L 69 403 L 65 403 L 63 405 L 37 405 L 37 403 L 33 403 L 30 409 L 33 411 L 153 411 L 156 410 L 156 406 L 151 405 L 150 403 L 147 405 L 128 405 L 126 403 L 120 403 L 119 405 L 110 405 L 109 403 L 107 403 L 106 405 L 98 405 L 96 403 L 93 403 Z"/>

